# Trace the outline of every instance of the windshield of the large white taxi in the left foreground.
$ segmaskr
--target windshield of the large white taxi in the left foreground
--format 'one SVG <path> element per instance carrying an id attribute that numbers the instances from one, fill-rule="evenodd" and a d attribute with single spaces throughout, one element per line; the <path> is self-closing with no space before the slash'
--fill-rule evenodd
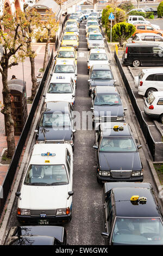
<path id="1" fill-rule="evenodd" d="M 42 156 L 42 157 L 45 157 L 45 156 Z M 37 185 L 37 186 L 68 184 L 65 165 L 64 164 L 57 164 L 57 165 L 30 164 L 26 174 L 24 184 Z"/>

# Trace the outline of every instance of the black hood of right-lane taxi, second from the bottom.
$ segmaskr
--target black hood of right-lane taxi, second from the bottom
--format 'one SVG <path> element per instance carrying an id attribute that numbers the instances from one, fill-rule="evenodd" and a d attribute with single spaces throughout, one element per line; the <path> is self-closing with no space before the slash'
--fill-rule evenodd
<path id="1" fill-rule="evenodd" d="M 141 170 L 138 152 L 99 152 L 99 166 L 101 170 Z"/>

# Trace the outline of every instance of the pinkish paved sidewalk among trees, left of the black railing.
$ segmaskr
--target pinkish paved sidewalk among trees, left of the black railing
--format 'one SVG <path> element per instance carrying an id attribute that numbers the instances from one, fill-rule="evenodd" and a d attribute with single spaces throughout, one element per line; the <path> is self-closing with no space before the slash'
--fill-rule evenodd
<path id="1" fill-rule="evenodd" d="M 51 44 L 50 51 L 52 51 L 54 44 Z M 39 74 L 39 69 L 43 66 L 43 59 L 45 54 L 45 44 L 33 44 L 33 49 L 37 56 L 35 57 L 35 76 Z M 32 89 L 32 82 L 30 76 L 30 61 L 27 58 L 24 63 L 20 63 L 17 66 L 13 66 L 8 71 L 8 80 L 15 75 L 16 78 L 23 80 L 23 68 L 24 68 L 24 81 L 26 81 L 26 90 L 27 90 L 27 97 L 31 95 Z M 0 100 L 3 102 L 2 96 L 2 75 L 0 75 Z M 30 112 L 32 104 L 27 105 L 28 114 Z M 17 145 L 20 136 L 15 136 L 15 144 Z M 2 156 L 3 151 L 7 149 L 7 137 L 5 136 L 5 127 L 4 127 L 4 115 L 0 112 L 0 156 Z M 0 185 L 3 184 L 5 175 L 8 172 L 8 164 L 1 164 L 0 163 Z"/>

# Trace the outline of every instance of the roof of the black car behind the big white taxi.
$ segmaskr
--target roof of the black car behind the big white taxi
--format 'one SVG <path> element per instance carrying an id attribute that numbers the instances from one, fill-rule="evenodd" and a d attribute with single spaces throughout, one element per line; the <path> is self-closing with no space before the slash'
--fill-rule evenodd
<path id="1" fill-rule="evenodd" d="M 69 113 L 70 103 L 67 101 L 48 101 L 46 102 L 46 108 L 44 113 L 49 112 L 61 112 L 61 113 Z"/>

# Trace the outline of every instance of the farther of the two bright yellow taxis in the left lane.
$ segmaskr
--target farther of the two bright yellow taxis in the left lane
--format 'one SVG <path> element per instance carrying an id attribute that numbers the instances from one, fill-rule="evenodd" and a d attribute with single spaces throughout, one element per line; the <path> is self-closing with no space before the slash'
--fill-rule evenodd
<path id="1" fill-rule="evenodd" d="M 78 51 L 79 37 L 74 32 L 66 32 L 61 41 L 61 46 L 72 46 Z"/>

